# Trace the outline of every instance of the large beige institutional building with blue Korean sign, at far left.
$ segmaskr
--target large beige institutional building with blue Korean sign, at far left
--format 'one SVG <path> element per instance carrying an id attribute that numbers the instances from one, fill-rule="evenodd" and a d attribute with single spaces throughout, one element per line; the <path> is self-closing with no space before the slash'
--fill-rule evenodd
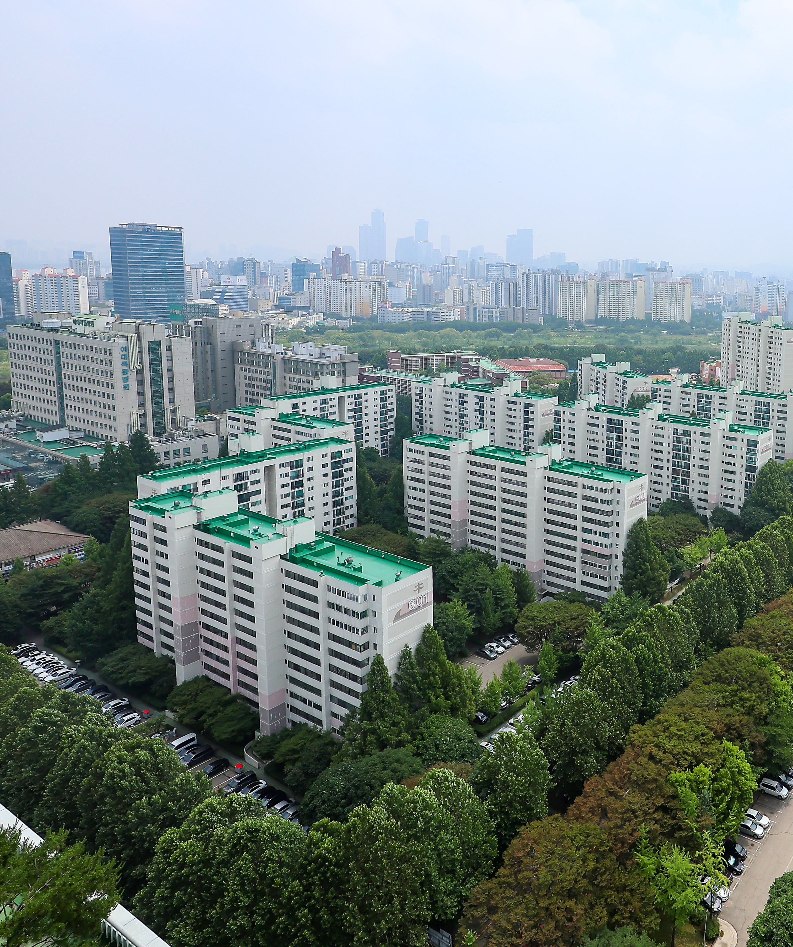
<path id="1" fill-rule="evenodd" d="M 125 441 L 195 413 L 189 339 L 161 323 L 40 313 L 9 327 L 9 360 L 11 404 L 32 420 Z"/>

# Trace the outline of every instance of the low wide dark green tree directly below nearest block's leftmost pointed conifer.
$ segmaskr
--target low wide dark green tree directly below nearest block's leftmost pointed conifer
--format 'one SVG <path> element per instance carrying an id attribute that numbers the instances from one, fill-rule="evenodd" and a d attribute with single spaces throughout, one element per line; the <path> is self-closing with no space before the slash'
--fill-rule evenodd
<path id="1" fill-rule="evenodd" d="M 406 749 L 341 759 L 316 778 L 300 804 L 301 816 L 309 824 L 322 818 L 343 822 L 356 806 L 372 802 L 387 782 L 418 776 L 423 769 L 421 759 Z"/>

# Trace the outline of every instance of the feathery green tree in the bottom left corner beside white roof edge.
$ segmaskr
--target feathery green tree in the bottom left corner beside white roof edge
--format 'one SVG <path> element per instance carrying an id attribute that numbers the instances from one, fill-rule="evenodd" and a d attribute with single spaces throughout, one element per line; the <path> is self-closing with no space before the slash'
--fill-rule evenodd
<path id="1" fill-rule="evenodd" d="M 0 938 L 9 947 L 95 938 L 117 902 L 117 870 L 102 852 L 67 845 L 65 831 L 38 846 L 0 831 Z"/>

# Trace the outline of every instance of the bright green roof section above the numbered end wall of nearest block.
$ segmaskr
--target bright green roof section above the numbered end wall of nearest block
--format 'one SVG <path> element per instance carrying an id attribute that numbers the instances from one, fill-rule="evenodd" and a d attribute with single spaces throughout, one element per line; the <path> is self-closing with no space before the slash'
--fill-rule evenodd
<path id="1" fill-rule="evenodd" d="M 324 533 L 317 533 L 314 543 L 294 546 L 281 559 L 356 585 L 392 585 L 428 568 L 404 556 L 380 552 Z"/>

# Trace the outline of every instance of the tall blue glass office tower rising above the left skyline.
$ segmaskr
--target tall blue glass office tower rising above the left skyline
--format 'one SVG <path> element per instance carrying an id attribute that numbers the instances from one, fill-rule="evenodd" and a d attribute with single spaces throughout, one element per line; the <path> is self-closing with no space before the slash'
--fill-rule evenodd
<path id="1" fill-rule="evenodd" d="M 119 223 L 110 228 L 114 308 L 122 319 L 181 318 L 185 250 L 181 227 Z"/>

